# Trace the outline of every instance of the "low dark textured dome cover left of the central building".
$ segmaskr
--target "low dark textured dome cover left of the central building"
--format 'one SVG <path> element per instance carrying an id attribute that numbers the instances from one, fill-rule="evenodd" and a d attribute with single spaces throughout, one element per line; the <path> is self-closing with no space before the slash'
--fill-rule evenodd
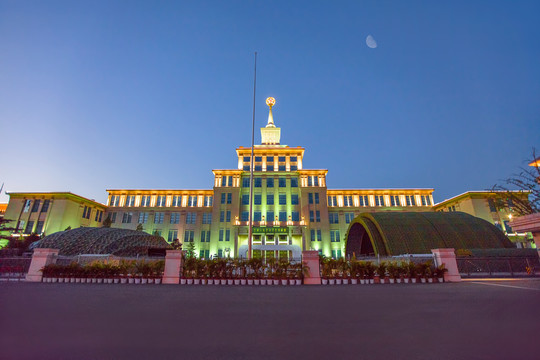
<path id="1" fill-rule="evenodd" d="M 147 255 L 148 249 L 166 249 L 161 237 L 143 231 L 81 227 L 45 236 L 31 248 L 58 249 L 60 255 L 111 254 L 117 256 Z"/>

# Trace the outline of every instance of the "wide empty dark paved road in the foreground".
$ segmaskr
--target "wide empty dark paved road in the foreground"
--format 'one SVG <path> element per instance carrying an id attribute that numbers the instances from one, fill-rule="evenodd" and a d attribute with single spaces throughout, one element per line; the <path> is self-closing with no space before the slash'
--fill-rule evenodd
<path id="1" fill-rule="evenodd" d="M 0 359 L 538 359 L 540 281 L 0 284 Z"/>

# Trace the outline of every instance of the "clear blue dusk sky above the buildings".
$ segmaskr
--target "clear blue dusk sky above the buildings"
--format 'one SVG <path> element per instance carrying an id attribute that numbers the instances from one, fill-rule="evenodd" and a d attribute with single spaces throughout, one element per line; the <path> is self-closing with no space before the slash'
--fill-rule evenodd
<path id="1" fill-rule="evenodd" d="M 0 1 L 7 191 L 210 189 L 274 96 L 341 188 L 483 190 L 540 149 L 538 1 Z M 378 46 L 366 45 L 372 35 Z M 0 202 L 7 202 L 5 194 Z"/>

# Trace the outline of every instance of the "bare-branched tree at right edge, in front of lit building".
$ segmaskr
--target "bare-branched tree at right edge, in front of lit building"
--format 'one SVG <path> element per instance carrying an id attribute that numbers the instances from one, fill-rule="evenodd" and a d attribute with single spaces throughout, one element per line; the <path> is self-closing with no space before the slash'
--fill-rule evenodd
<path id="1" fill-rule="evenodd" d="M 511 209 L 517 216 L 540 212 L 540 158 L 536 156 L 535 148 L 527 163 L 528 167 L 520 167 L 520 172 L 504 180 L 503 185 L 492 187 L 492 191 L 500 193 L 494 201 L 497 209 Z"/>

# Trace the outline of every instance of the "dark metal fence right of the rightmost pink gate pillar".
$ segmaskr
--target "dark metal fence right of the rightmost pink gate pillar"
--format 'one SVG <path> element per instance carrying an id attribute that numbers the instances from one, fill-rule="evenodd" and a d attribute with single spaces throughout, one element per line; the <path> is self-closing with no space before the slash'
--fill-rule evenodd
<path id="1" fill-rule="evenodd" d="M 540 276 L 538 259 L 530 257 L 458 257 L 462 277 Z"/>

